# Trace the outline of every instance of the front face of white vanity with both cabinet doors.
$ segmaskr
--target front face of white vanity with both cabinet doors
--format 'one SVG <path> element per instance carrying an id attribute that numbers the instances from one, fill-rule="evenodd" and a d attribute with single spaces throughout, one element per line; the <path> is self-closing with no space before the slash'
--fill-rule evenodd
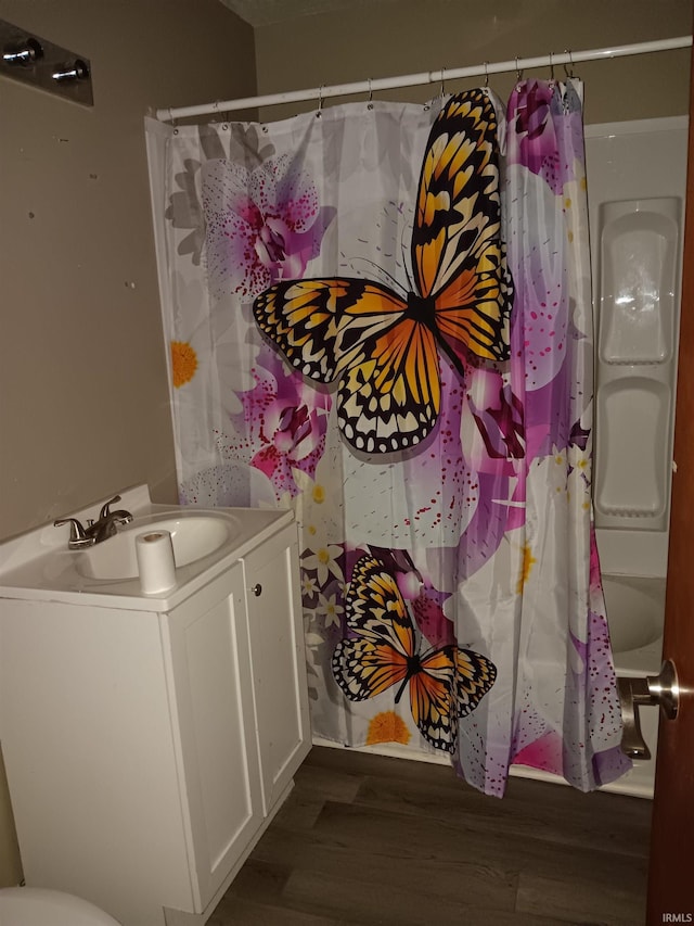
<path id="1" fill-rule="evenodd" d="M 163 624 L 198 911 L 310 749 L 298 575 L 290 525 Z"/>

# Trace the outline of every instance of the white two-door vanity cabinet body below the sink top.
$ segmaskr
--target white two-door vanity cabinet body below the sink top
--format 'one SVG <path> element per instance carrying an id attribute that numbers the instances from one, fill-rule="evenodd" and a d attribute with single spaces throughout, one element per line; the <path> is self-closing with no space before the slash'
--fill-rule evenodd
<path id="1" fill-rule="evenodd" d="M 310 748 L 288 512 L 239 554 L 164 610 L 0 588 L 0 745 L 28 885 L 124 926 L 203 924 L 281 806 Z"/>

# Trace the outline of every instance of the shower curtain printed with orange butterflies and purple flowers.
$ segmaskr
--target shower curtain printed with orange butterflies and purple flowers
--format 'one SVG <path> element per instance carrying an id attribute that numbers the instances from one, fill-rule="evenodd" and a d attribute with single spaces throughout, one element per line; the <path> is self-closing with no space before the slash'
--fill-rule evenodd
<path id="1" fill-rule="evenodd" d="M 180 498 L 294 510 L 314 737 L 622 774 L 580 85 L 147 147 Z"/>

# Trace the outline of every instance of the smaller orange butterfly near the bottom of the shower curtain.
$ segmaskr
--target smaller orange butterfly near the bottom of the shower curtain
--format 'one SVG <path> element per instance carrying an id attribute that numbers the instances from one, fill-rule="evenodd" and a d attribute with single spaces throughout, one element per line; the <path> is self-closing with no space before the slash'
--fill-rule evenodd
<path id="1" fill-rule="evenodd" d="M 408 683 L 415 724 L 436 749 L 454 752 L 458 718 L 475 710 L 497 677 L 494 664 L 454 644 L 419 651 L 415 630 L 397 582 L 373 556 L 355 565 L 347 593 L 354 636 L 335 647 L 333 674 L 345 695 L 363 701 Z"/>

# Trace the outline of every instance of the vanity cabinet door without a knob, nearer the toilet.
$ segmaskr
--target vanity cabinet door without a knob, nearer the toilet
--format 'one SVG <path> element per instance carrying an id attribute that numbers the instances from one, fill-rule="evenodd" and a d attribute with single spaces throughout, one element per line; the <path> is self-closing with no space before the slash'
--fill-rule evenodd
<path id="1" fill-rule="evenodd" d="M 242 565 L 164 621 L 200 913 L 262 822 Z"/>

